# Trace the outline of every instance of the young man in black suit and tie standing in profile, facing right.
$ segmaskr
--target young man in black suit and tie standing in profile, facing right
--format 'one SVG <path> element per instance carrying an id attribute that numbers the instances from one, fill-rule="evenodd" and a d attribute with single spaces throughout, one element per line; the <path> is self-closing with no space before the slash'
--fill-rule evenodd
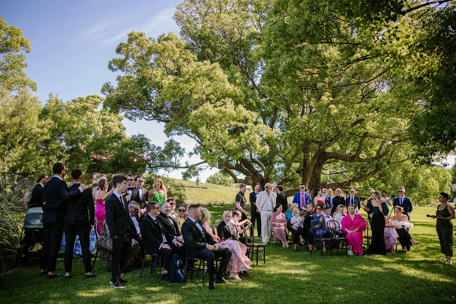
<path id="1" fill-rule="evenodd" d="M 124 288 L 122 284 L 128 283 L 128 281 L 120 278 L 120 270 L 124 269 L 128 263 L 131 238 L 136 233 L 136 229 L 128 214 L 127 201 L 122 196 L 127 187 L 127 178 L 124 175 L 114 175 L 112 182 L 114 191 L 104 204 L 106 208 L 105 221 L 109 228 L 109 237 L 113 240 L 112 278 L 109 283 L 114 288 Z"/>

